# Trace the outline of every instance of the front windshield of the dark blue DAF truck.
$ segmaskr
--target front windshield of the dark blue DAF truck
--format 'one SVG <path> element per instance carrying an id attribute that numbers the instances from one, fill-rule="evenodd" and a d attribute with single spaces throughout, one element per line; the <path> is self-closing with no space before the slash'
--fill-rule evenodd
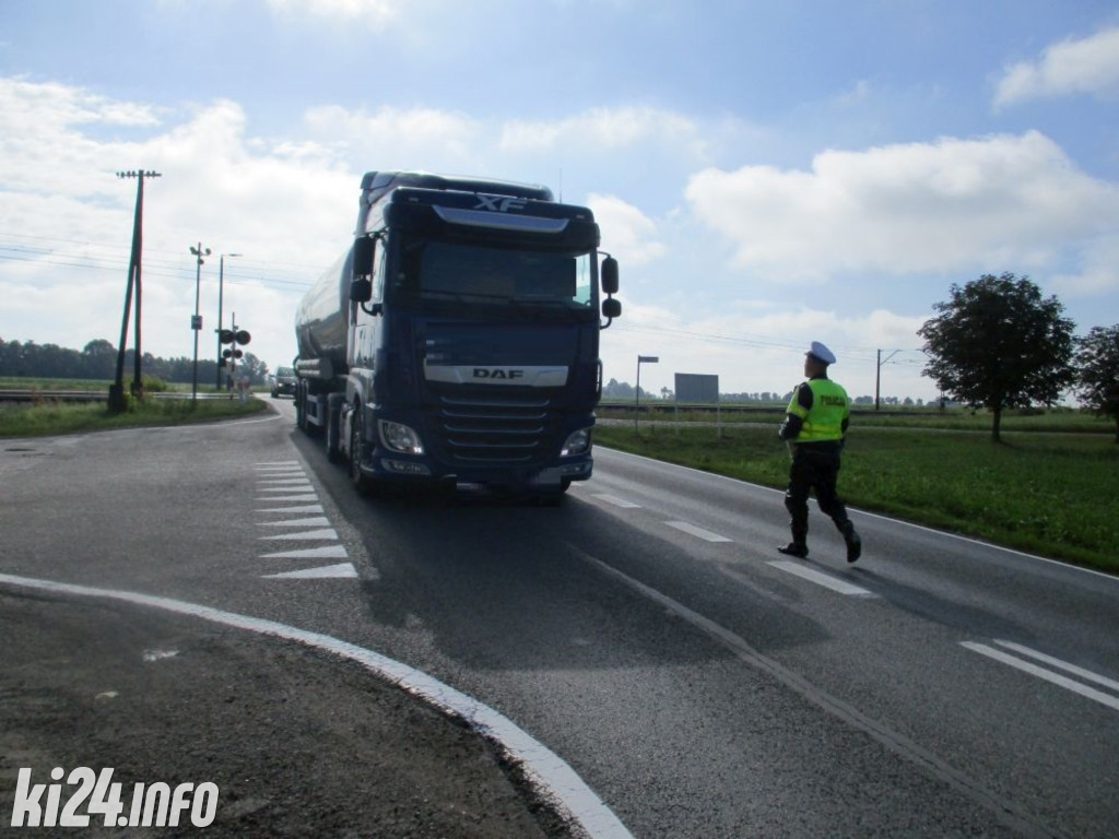
<path id="1" fill-rule="evenodd" d="M 452 242 L 407 248 L 410 298 L 424 309 L 501 309 L 510 317 L 593 312 L 589 253 L 523 251 Z"/>

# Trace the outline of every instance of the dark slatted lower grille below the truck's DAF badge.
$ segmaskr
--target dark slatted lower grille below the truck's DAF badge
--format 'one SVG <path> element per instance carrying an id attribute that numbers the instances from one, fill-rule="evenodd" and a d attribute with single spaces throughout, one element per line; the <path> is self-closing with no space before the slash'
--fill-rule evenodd
<path id="1" fill-rule="evenodd" d="M 441 396 L 436 422 L 458 462 L 532 463 L 545 456 L 549 399 Z"/>

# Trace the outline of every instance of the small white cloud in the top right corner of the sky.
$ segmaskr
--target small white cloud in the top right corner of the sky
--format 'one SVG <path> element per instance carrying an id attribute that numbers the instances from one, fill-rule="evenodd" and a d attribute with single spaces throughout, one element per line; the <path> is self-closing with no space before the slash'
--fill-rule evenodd
<path id="1" fill-rule="evenodd" d="M 1063 40 L 1046 47 L 1036 62 L 1009 67 L 998 83 L 995 104 L 1080 93 L 1119 96 L 1119 28 Z"/>

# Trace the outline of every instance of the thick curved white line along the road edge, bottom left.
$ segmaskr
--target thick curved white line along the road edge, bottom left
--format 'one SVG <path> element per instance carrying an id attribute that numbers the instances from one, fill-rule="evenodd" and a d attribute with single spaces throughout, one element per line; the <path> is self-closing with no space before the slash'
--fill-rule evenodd
<path id="1" fill-rule="evenodd" d="M 575 771 L 560 755 L 530 736 L 511 719 L 422 670 L 394 661 L 378 652 L 318 632 L 309 632 L 274 621 L 222 612 L 209 606 L 166 597 L 153 597 L 134 592 L 88 588 L 9 574 L 0 574 L 0 584 L 38 588 L 79 597 L 103 597 L 134 603 L 149 609 L 162 609 L 226 626 L 257 632 L 262 635 L 297 641 L 357 661 L 432 707 L 462 720 L 472 732 L 499 744 L 511 762 L 519 764 L 525 770 L 528 782 L 540 791 L 545 800 L 556 807 L 561 818 L 567 817 L 575 822 L 590 839 L 633 839 L 633 835 L 606 807 L 605 802 L 586 785 L 583 779 L 575 774 Z"/>

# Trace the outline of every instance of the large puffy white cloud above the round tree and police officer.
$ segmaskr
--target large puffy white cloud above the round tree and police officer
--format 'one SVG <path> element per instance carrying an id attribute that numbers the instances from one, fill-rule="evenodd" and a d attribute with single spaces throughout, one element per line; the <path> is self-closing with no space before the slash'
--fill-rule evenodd
<path id="1" fill-rule="evenodd" d="M 1071 244 L 1119 236 L 1119 189 L 1076 170 L 1049 138 L 942 139 L 826 151 L 810 171 L 694 176 L 696 217 L 734 262 L 771 281 L 1044 266 Z"/>

